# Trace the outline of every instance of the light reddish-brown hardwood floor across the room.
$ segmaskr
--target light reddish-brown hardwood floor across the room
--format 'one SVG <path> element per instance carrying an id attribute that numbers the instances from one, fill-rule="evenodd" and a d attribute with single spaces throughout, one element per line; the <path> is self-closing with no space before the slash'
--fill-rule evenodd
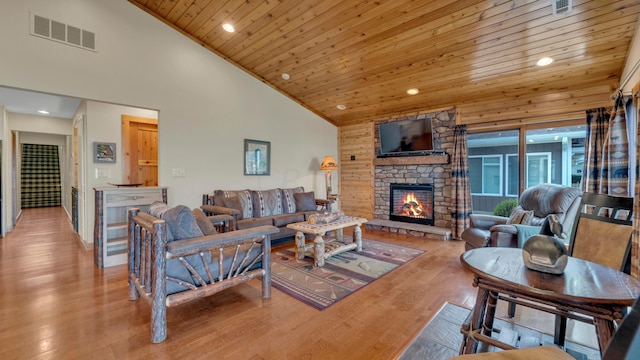
<path id="1" fill-rule="evenodd" d="M 0 238 L 0 358 L 393 359 L 445 302 L 473 306 L 462 242 L 364 236 L 426 253 L 324 311 L 276 289 L 262 300 L 254 280 L 169 309 L 168 338 L 152 344 L 125 266 L 96 269 L 62 208 L 23 210 Z"/>

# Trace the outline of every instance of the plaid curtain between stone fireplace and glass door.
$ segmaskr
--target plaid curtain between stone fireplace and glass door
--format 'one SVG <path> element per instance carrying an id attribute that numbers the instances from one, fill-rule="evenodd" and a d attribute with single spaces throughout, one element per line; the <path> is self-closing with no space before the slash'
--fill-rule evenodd
<path id="1" fill-rule="evenodd" d="M 471 187 L 469 184 L 469 152 L 467 151 L 467 126 L 458 125 L 453 135 L 453 155 L 451 157 L 451 228 L 453 238 L 459 239 L 464 229 L 469 227 L 472 211 Z"/>

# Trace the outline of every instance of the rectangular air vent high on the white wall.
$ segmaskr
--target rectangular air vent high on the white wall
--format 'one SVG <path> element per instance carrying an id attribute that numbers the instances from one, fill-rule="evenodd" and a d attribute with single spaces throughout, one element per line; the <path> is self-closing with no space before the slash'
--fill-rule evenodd
<path id="1" fill-rule="evenodd" d="M 31 16 L 31 35 L 96 51 L 96 34 L 43 16 Z"/>

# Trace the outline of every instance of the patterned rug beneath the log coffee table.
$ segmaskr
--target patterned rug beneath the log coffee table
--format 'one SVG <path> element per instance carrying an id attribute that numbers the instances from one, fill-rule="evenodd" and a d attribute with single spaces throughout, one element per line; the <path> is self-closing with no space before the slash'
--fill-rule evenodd
<path id="1" fill-rule="evenodd" d="M 323 267 L 316 267 L 310 256 L 296 259 L 292 247 L 271 253 L 271 281 L 274 288 L 324 310 L 423 253 L 362 239 L 361 252 L 334 255 Z"/>

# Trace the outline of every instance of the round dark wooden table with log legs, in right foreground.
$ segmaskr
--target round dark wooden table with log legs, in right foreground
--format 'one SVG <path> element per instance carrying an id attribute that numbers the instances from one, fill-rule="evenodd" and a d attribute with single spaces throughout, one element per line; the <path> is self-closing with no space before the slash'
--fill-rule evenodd
<path id="1" fill-rule="evenodd" d="M 462 326 L 461 353 L 476 352 L 478 342 L 512 349 L 491 337 L 499 299 L 595 325 L 600 353 L 622 320 L 622 308 L 640 294 L 640 281 L 623 272 L 590 261 L 569 257 L 561 275 L 528 269 L 522 250 L 478 248 L 460 256 L 462 265 L 474 273 L 478 287 L 476 304 Z"/>

